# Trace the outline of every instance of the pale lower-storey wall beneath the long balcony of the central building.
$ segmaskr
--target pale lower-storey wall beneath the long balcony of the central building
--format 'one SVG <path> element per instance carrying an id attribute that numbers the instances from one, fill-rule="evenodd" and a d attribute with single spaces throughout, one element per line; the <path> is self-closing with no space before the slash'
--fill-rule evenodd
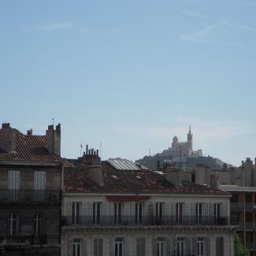
<path id="1" fill-rule="evenodd" d="M 135 256 L 137 239 L 143 238 L 146 242 L 146 254 L 147 256 L 157 256 L 156 254 L 156 243 L 158 238 L 164 238 L 165 243 L 165 255 L 176 254 L 176 242 L 177 239 L 184 239 L 184 249 L 185 255 L 192 255 L 196 253 L 196 241 L 198 238 L 202 238 L 204 241 L 204 250 L 206 256 L 216 255 L 216 239 L 217 237 L 222 237 L 224 239 L 224 255 L 233 256 L 233 234 L 227 230 L 210 230 L 209 228 L 195 228 L 189 231 L 182 230 L 182 228 L 169 228 L 165 231 L 156 230 L 138 230 L 137 232 L 127 231 L 127 230 L 115 230 L 108 232 L 87 232 L 84 228 L 80 228 L 80 231 L 75 230 L 65 230 L 62 232 L 63 236 L 61 239 L 61 255 L 72 256 L 72 241 L 73 239 L 80 239 L 82 247 L 82 255 L 94 254 L 94 240 L 102 239 L 103 241 L 103 254 L 104 256 L 114 255 L 114 242 L 116 238 L 124 239 L 124 255 L 125 256 Z"/>

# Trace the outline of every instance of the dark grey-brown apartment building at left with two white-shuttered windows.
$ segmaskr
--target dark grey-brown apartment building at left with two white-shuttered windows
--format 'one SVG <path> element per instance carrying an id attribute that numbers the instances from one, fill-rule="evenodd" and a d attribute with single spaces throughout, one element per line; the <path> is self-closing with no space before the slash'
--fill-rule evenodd
<path id="1" fill-rule="evenodd" d="M 61 126 L 0 129 L 0 255 L 60 256 Z"/>

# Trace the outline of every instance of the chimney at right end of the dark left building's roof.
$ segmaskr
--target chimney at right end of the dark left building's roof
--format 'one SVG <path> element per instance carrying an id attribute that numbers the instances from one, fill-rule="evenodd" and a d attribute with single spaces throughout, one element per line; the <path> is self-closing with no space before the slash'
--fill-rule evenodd
<path id="1" fill-rule="evenodd" d="M 61 154 L 61 124 L 48 125 L 46 130 L 47 148 L 51 153 Z"/>

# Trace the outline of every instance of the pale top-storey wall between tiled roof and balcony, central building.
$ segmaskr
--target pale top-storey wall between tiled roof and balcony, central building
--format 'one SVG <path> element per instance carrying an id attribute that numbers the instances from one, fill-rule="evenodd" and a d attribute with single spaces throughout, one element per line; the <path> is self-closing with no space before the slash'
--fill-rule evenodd
<path id="1" fill-rule="evenodd" d="M 102 214 L 113 215 L 114 202 L 109 202 L 103 195 L 65 195 L 63 198 L 63 215 L 72 214 L 72 202 L 82 202 L 82 215 L 91 215 L 92 202 L 102 202 Z M 184 202 L 184 216 L 195 215 L 195 204 L 203 203 L 203 214 L 213 216 L 213 204 L 221 203 L 221 215 L 229 216 L 229 196 L 216 195 L 152 195 L 151 198 L 144 202 L 144 214 L 148 214 L 148 206 L 156 202 L 164 202 L 164 214 L 176 215 L 176 202 Z M 155 208 L 154 208 L 155 212 Z M 135 202 L 124 202 L 123 214 L 130 215 L 135 213 Z"/>

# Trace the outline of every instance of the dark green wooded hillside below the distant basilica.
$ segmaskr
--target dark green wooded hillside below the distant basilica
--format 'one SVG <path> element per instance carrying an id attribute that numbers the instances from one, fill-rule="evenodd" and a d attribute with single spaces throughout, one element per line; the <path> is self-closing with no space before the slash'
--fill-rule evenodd
<path id="1" fill-rule="evenodd" d="M 156 170 L 159 167 L 162 167 L 164 164 L 164 160 L 171 160 L 170 158 L 164 158 L 162 154 L 155 154 L 154 156 L 145 156 L 136 162 L 141 163 L 142 165 L 146 165 L 148 168 Z M 208 157 L 200 157 L 200 158 L 186 158 L 186 161 L 182 162 L 182 169 L 186 169 L 187 171 L 191 171 L 195 169 L 195 165 L 202 164 L 208 165 L 210 169 L 222 169 L 222 165 L 224 164 L 218 158 Z M 180 168 L 180 162 L 176 163 L 176 167 Z"/>

